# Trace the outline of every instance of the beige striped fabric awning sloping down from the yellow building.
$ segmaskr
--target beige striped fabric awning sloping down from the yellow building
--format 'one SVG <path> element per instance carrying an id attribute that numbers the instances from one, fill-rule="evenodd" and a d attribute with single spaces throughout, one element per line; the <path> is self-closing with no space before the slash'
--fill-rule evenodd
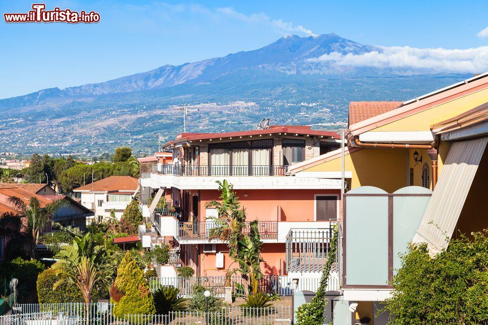
<path id="1" fill-rule="evenodd" d="M 431 255 L 447 248 L 463 210 L 488 137 L 454 142 L 447 154 L 413 243 L 427 242 Z"/>

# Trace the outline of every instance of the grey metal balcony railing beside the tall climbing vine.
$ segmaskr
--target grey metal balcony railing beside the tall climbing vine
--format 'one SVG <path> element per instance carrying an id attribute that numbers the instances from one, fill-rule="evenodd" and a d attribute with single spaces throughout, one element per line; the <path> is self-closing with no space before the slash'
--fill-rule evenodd
<path id="1" fill-rule="evenodd" d="M 327 262 L 332 228 L 290 229 L 286 236 L 288 272 L 320 272 Z"/>

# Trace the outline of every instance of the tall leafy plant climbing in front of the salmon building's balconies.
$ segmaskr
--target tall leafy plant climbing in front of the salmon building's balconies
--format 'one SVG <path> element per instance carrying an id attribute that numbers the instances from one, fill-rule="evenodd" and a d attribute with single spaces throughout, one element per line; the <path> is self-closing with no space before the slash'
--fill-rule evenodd
<path id="1" fill-rule="evenodd" d="M 258 290 L 258 280 L 261 279 L 262 273 L 259 263 L 261 259 L 261 246 L 263 242 L 258 231 L 257 220 L 250 224 L 250 232 L 244 234 L 245 228 L 245 209 L 241 208 L 239 197 L 234 192 L 232 184 L 217 181 L 220 198 L 222 202 L 210 201 L 206 207 L 214 207 L 219 213 L 217 218 L 212 218 L 216 226 L 210 229 L 210 236 L 219 237 L 226 241 L 229 248 L 229 257 L 239 263 L 238 271 L 247 286 L 244 289 L 256 293 Z M 230 278 L 230 272 L 228 278 Z"/>

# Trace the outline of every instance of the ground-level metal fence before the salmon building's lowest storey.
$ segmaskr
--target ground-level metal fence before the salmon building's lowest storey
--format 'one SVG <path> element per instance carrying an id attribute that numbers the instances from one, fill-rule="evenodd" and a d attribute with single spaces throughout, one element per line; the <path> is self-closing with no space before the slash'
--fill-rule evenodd
<path id="1" fill-rule="evenodd" d="M 231 279 L 232 293 L 235 296 L 244 296 L 242 287 L 245 285 L 241 276 L 232 276 Z M 180 295 L 190 297 L 193 287 L 201 285 L 208 287 L 216 296 L 225 295 L 225 276 L 208 276 L 208 277 L 163 277 L 149 279 L 149 288 L 151 291 L 159 287 L 173 286 L 180 289 Z M 286 275 L 263 275 L 259 280 L 258 286 L 260 291 L 280 296 L 291 296 L 294 292 L 309 290 L 316 291 L 319 287 L 320 278 L 292 278 Z M 327 291 L 338 291 L 340 288 L 339 275 L 337 272 L 331 272 L 328 282 Z"/>

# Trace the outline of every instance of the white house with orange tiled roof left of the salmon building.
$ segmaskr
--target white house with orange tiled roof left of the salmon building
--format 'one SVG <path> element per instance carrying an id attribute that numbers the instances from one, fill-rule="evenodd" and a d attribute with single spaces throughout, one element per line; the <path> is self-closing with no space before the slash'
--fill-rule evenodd
<path id="1" fill-rule="evenodd" d="M 115 211 L 116 218 L 120 220 L 123 210 L 132 200 L 138 187 L 137 178 L 110 176 L 73 191 L 81 193 L 81 204 L 95 212 L 94 220 L 87 220 L 87 222 L 102 222 L 110 217 L 112 209 Z"/>

